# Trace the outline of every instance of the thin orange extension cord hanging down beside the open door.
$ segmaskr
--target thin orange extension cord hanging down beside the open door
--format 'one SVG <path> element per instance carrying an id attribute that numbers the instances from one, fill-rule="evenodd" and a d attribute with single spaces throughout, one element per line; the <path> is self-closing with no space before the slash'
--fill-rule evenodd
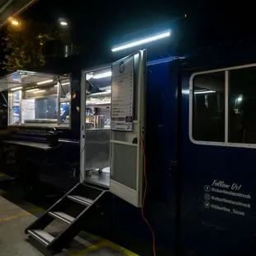
<path id="1" fill-rule="evenodd" d="M 154 254 L 154 256 L 156 256 L 156 253 L 155 253 L 155 235 L 154 235 L 154 231 L 152 230 L 152 227 L 149 224 L 149 220 L 147 220 L 145 215 L 144 215 L 144 206 L 145 206 L 145 197 L 146 197 L 147 188 L 148 188 L 148 179 L 147 179 L 147 175 L 146 175 L 145 145 L 144 145 L 144 141 L 142 139 L 142 135 L 140 135 L 140 143 L 142 145 L 142 151 L 143 151 L 143 162 L 144 162 L 143 163 L 143 175 L 144 175 L 144 180 L 145 180 L 145 190 L 144 190 L 144 195 L 143 195 L 143 199 L 142 199 L 141 216 L 142 216 L 143 220 L 145 220 L 145 223 L 149 226 L 149 230 L 152 233 L 152 238 L 153 238 L 153 254 Z"/>

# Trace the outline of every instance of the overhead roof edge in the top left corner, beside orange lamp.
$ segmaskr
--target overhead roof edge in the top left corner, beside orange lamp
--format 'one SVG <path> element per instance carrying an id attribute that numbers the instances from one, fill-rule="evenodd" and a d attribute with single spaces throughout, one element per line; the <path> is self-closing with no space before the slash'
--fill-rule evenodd
<path id="1" fill-rule="evenodd" d="M 0 0 L 0 28 L 7 23 L 8 17 L 17 17 L 37 0 Z"/>

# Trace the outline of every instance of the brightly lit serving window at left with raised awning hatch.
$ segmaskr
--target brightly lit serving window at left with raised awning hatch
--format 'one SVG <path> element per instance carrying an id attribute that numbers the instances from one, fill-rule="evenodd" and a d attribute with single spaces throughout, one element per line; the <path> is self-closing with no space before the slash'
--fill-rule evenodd
<path id="1" fill-rule="evenodd" d="M 26 71 L 9 76 L 9 83 L 5 85 L 8 90 L 9 126 L 70 127 L 69 76 Z"/>

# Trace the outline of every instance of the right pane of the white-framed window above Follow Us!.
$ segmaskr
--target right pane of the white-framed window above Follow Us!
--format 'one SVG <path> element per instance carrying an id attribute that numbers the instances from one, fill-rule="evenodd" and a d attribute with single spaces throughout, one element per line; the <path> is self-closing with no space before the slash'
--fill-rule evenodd
<path id="1" fill-rule="evenodd" d="M 256 144 L 256 67 L 229 72 L 229 142 Z"/>

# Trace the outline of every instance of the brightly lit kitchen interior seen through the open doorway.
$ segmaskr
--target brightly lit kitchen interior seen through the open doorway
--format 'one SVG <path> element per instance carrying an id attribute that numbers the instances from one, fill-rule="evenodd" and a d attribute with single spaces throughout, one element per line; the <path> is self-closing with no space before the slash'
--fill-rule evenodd
<path id="1" fill-rule="evenodd" d="M 86 78 L 85 180 L 110 184 L 111 67 L 88 71 Z"/>

